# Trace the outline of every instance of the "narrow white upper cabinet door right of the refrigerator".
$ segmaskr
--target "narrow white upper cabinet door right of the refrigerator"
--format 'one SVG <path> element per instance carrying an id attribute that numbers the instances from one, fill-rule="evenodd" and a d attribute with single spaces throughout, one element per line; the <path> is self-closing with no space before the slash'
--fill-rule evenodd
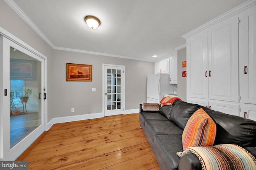
<path id="1" fill-rule="evenodd" d="M 178 83 L 178 57 L 170 57 L 170 84 Z"/>

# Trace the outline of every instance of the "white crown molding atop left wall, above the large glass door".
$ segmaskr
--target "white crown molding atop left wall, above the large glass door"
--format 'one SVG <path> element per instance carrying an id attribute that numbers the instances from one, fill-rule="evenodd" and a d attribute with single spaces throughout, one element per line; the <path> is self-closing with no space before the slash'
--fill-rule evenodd
<path id="1" fill-rule="evenodd" d="M 38 29 L 38 27 L 24 14 L 24 12 L 13 2 L 13 0 L 4 0 L 46 43 L 54 48 L 53 43 Z"/>

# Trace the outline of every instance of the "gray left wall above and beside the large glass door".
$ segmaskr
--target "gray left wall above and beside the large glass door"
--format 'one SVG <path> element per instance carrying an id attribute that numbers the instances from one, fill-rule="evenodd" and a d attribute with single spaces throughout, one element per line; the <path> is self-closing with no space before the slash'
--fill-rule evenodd
<path id="1" fill-rule="evenodd" d="M 0 27 L 48 58 L 48 121 L 53 118 L 52 53 L 53 49 L 10 6 L 0 0 Z"/>

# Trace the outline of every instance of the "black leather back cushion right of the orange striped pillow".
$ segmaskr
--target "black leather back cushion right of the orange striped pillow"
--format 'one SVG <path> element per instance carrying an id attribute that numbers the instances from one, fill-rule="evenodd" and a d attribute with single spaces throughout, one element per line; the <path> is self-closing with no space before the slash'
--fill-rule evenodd
<path id="1" fill-rule="evenodd" d="M 216 123 L 217 133 L 214 145 L 230 143 L 241 147 L 256 147 L 256 121 L 206 107 L 203 109 Z"/>

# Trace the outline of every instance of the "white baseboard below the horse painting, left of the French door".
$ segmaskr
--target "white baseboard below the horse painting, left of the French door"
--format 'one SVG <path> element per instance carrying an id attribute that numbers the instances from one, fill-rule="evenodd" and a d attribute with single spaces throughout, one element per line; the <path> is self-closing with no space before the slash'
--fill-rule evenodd
<path id="1" fill-rule="evenodd" d="M 65 116 L 65 117 L 55 117 L 50 120 L 47 124 L 47 131 L 52 127 L 52 125 L 56 123 L 65 123 L 71 121 L 80 121 L 80 120 L 87 120 L 87 119 L 96 119 L 104 117 L 103 113 L 91 113 L 91 114 L 84 114 L 84 115 L 74 115 L 74 116 Z"/>

